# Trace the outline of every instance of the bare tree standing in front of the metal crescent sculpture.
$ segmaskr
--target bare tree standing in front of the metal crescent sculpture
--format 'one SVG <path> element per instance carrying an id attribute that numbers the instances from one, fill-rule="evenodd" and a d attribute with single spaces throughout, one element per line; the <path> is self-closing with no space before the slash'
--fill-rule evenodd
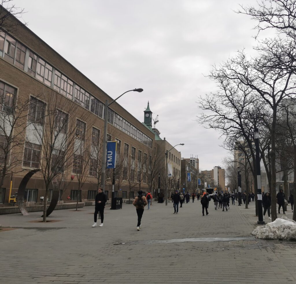
<path id="1" fill-rule="evenodd" d="M 53 90 L 44 90 L 38 99 L 31 96 L 23 166 L 41 170 L 45 184 L 44 222 L 52 181 L 72 168 L 76 138 L 85 135 L 82 124 L 77 128 L 76 116 L 82 122 L 89 117 L 89 112 Z"/>

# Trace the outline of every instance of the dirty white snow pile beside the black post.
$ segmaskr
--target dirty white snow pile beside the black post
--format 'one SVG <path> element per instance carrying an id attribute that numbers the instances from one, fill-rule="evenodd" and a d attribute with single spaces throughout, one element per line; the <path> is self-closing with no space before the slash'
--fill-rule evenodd
<path id="1" fill-rule="evenodd" d="M 256 227 L 252 235 L 258 239 L 296 240 L 296 222 L 282 216 L 264 226 Z"/>

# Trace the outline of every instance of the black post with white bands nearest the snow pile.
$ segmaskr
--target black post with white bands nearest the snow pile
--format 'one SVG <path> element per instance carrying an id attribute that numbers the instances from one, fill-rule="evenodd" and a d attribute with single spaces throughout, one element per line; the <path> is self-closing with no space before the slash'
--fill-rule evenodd
<path id="1" fill-rule="evenodd" d="M 254 142 L 256 151 L 256 174 L 257 174 L 257 204 L 258 204 L 258 221 L 257 224 L 265 224 L 263 221 L 262 210 L 262 191 L 261 191 L 261 170 L 260 170 L 260 151 L 259 151 L 259 132 L 256 126 L 254 127 Z"/>

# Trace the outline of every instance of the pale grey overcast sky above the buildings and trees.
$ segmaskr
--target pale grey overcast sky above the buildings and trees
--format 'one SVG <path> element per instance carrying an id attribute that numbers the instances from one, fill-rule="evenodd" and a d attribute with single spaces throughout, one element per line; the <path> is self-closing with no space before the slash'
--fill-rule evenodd
<path id="1" fill-rule="evenodd" d="M 213 169 L 231 153 L 215 130 L 196 122 L 197 96 L 215 90 L 205 78 L 255 45 L 255 22 L 234 10 L 254 0 L 15 0 L 28 27 L 141 122 L 149 100 L 161 138 L 184 158 Z M 58 66 L 57 66 L 58 67 Z"/>

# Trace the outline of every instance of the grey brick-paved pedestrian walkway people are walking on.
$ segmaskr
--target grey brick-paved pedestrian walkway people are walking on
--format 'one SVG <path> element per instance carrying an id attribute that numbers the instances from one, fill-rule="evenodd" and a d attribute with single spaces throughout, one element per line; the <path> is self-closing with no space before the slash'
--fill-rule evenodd
<path id="1" fill-rule="evenodd" d="M 153 202 L 136 231 L 133 205 L 105 209 L 103 227 L 91 228 L 94 208 L 0 216 L 1 284 L 35 283 L 296 283 L 296 244 L 257 240 L 254 203 L 202 216 L 197 201 L 173 214 Z M 288 211 L 288 217 L 292 214 Z M 267 220 L 266 220 L 267 221 Z M 99 222 L 98 222 L 99 223 Z M 230 241 L 255 240 L 236 245 Z"/>

